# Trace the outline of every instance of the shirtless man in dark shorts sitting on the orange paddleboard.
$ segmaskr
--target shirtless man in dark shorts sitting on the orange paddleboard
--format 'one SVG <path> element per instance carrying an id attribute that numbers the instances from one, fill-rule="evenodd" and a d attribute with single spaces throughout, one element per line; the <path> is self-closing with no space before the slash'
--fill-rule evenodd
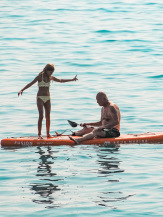
<path id="1" fill-rule="evenodd" d="M 113 138 L 120 136 L 120 110 L 119 107 L 108 100 L 104 92 L 99 92 L 96 95 L 96 100 L 101 109 L 101 120 L 93 123 L 83 123 L 82 130 L 72 134 L 72 136 L 83 136 L 82 138 L 74 139 L 69 138 L 76 144 L 93 139 L 93 138 Z M 88 126 L 88 127 L 87 127 Z M 91 127 L 89 127 L 91 126 Z"/>

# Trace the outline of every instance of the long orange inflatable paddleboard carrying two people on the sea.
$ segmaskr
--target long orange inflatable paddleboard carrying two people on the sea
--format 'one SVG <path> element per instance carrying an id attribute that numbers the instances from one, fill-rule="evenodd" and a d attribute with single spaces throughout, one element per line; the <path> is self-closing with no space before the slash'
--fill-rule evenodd
<path id="1" fill-rule="evenodd" d="M 79 138 L 77 136 L 73 137 Z M 109 144 L 142 144 L 142 143 L 162 143 L 163 132 L 157 133 L 142 133 L 142 134 L 122 134 L 117 138 L 97 138 L 82 142 L 84 145 L 109 145 Z M 15 137 L 1 140 L 2 146 L 59 146 L 59 145 L 74 145 L 74 142 L 66 135 L 54 136 L 53 138 L 43 137 Z"/>

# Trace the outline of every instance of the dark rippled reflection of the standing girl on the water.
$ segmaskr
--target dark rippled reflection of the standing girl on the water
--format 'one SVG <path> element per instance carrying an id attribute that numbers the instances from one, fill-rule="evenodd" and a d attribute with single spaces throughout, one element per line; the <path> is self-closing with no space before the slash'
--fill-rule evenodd
<path id="1" fill-rule="evenodd" d="M 53 207 L 58 207 L 54 205 L 54 194 L 59 191 L 57 182 L 57 174 L 52 172 L 52 164 L 57 157 L 53 157 L 53 152 L 51 147 L 47 147 L 47 154 L 41 147 L 37 147 L 37 152 L 40 155 L 40 162 L 38 164 L 36 177 L 39 177 L 38 183 L 33 183 L 30 185 L 30 189 L 34 194 L 39 195 L 39 199 L 33 199 L 33 202 L 38 204 L 53 204 Z M 56 178 L 55 178 L 56 177 Z"/>

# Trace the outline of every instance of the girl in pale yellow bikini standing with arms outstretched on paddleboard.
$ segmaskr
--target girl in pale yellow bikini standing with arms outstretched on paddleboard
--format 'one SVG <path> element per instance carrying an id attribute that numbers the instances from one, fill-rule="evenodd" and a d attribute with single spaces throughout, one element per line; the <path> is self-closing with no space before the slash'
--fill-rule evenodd
<path id="1" fill-rule="evenodd" d="M 42 120 L 43 120 L 43 111 L 45 109 L 45 117 L 46 117 L 46 133 L 47 137 L 51 137 L 50 135 L 50 111 L 51 111 L 51 102 L 50 102 L 50 81 L 56 81 L 60 83 L 69 82 L 69 81 L 77 81 L 77 75 L 73 79 L 58 79 L 54 76 L 52 76 L 53 72 L 55 70 L 55 67 L 53 64 L 47 64 L 42 72 L 40 72 L 36 78 L 27 84 L 22 90 L 18 92 L 18 96 L 22 93 L 24 90 L 31 87 L 33 84 L 35 84 L 38 81 L 38 93 L 37 93 L 37 107 L 39 112 L 39 119 L 38 119 L 38 138 L 42 139 L 41 136 L 41 129 L 42 129 Z M 44 108 L 44 109 L 43 109 Z"/>

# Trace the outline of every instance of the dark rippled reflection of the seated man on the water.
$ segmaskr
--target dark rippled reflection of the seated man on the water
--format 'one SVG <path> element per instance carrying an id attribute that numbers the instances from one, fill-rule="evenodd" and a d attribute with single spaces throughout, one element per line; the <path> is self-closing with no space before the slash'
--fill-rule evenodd
<path id="1" fill-rule="evenodd" d="M 117 191 L 117 187 L 120 185 L 120 178 L 116 176 L 116 173 L 125 172 L 120 168 L 121 161 L 118 159 L 119 147 L 103 147 L 98 153 L 98 164 L 100 165 L 98 170 L 98 176 L 105 178 L 105 189 L 100 192 L 100 201 L 98 205 L 111 207 L 117 209 L 116 202 L 126 200 L 133 195 L 124 195 L 124 192 Z"/>

